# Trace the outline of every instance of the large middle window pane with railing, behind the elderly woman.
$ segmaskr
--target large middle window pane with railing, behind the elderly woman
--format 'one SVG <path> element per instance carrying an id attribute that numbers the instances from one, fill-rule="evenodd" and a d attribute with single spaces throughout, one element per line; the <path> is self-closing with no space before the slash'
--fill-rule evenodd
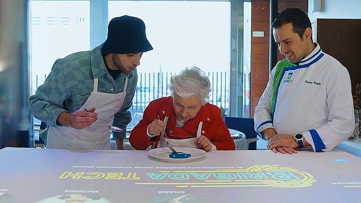
<path id="1" fill-rule="evenodd" d="M 123 15 L 139 17 L 154 48 L 143 54 L 137 67 L 138 88 L 129 126 L 138 123 L 138 115 L 150 101 L 170 95 L 170 77 L 189 65 L 209 76 L 209 102 L 228 108 L 230 6 L 230 2 L 109 2 L 109 21 Z"/>

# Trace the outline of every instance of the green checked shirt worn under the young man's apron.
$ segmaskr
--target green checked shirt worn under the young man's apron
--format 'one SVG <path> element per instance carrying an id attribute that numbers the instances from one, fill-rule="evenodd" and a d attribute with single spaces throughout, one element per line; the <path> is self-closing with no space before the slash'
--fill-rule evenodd
<path id="1" fill-rule="evenodd" d="M 125 78 L 128 77 L 127 94 L 113 123 L 124 130 L 113 132 L 113 137 L 125 138 L 126 127 L 132 120 L 128 109 L 132 105 L 137 73 L 136 70 L 129 75 L 121 73 L 114 80 L 106 69 L 101 46 L 102 44 L 91 51 L 77 52 L 57 59 L 44 84 L 29 97 L 29 114 L 56 127 L 60 113 L 73 113 L 83 106 L 93 91 L 94 78 L 98 78 L 99 92 L 115 94 L 123 92 Z"/>

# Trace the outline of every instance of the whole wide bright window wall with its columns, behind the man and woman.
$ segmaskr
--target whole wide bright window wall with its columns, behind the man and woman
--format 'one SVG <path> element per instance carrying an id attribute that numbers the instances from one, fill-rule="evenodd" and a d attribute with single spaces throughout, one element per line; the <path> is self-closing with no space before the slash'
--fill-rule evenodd
<path id="1" fill-rule="evenodd" d="M 94 5 L 100 11 L 91 9 Z M 209 76 L 212 85 L 210 103 L 221 107 L 224 114 L 248 117 L 250 10 L 250 2 L 233 0 L 109 1 L 107 4 L 96 1 L 33 0 L 32 93 L 43 84 L 57 58 L 94 48 L 99 43 L 94 44 L 92 38 L 98 38 L 99 42 L 105 40 L 102 38 L 106 37 L 106 28 L 92 28 L 92 16 L 103 15 L 111 20 L 116 16 L 131 15 L 145 21 L 147 37 L 154 50 L 143 55 L 137 68 L 138 86 L 130 109 L 133 121 L 129 127 L 138 123 L 151 100 L 170 95 L 170 77 L 189 65 L 199 67 Z M 235 11 L 238 17 L 235 17 Z M 244 28 L 242 22 L 237 21 L 239 16 L 244 19 Z M 102 23 L 107 25 L 107 22 Z M 236 30 L 236 35 L 232 29 Z M 99 35 L 99 31 L 105 35 L 94 36 Z M 238 37 L 238 33 L 243 36 Z M 235 57 L 232 51 L 236 53 Z M 231 63 L 236 64 L 237 80 L 231 77 Z M 237 99 L 233 100 L 230 95 L 232 84 L 236 90 L 232 94 L 237 95 Z M 239 110 L 229 111 L 232 103 Z M 34 122 L 40 123 L 37 120 Z"/>

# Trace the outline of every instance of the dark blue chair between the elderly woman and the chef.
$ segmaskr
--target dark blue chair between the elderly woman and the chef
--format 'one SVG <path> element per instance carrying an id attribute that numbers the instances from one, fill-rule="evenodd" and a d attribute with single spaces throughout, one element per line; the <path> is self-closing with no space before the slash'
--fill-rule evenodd
<path id="1" fill-rule="evenodd" d="M 253 118 L 225 117 L 226 126 L 230 129 L 241 131 L 245 134 L 248 150 L 257 150 L 257 133 L 254 129 L 255 120 Z"/>

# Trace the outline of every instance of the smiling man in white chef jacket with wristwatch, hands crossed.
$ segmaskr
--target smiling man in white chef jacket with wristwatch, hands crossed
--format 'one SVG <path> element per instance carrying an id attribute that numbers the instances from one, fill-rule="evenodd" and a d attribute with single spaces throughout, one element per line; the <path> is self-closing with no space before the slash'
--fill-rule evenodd
<path id="1" fill-rule="evenodd" d="M 348 71 L 313 43 L 302 10 L 285 9 L 272 29 L 286 58 L 271 71 L 255 110 L 255 130 L 275 153 L 297 153 L 302 147 L 330 151 L 354 129 Z"/>

